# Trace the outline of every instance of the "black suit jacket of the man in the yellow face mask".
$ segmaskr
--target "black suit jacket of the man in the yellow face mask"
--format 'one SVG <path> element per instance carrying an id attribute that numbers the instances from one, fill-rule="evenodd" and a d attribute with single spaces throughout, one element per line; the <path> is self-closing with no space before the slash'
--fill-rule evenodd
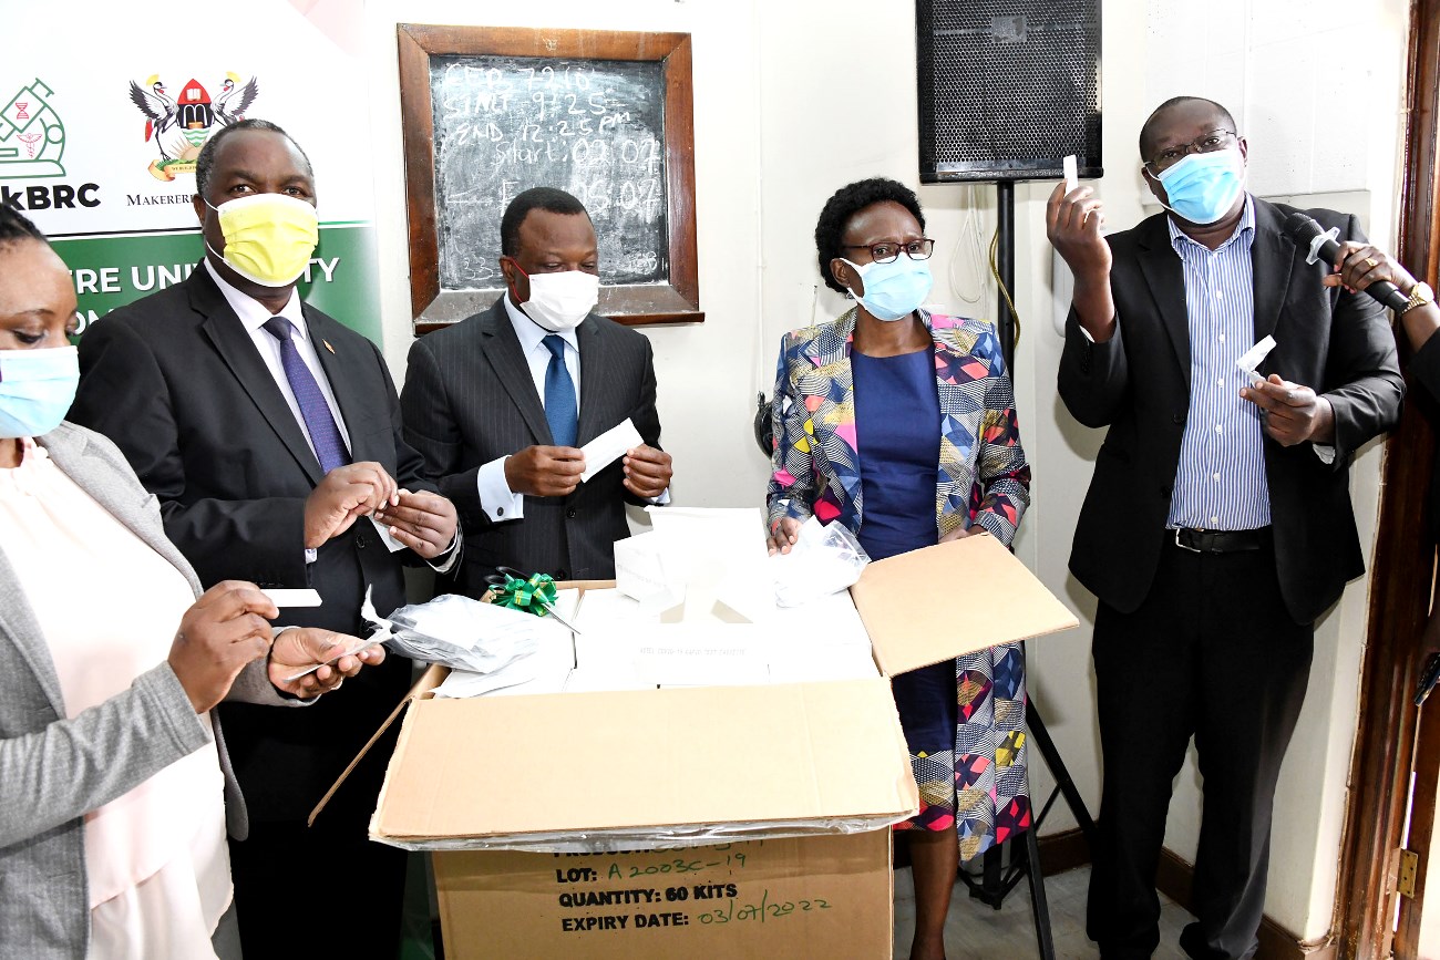
<path id="1" fill-rule="evenodd" d="M 400 438 L 399 400 L 380 351 L 311 307 L 304 315 L 353 458 L 382 463 L 405 488 L 433 489 Z M 84 334 L 79 353 L 71 419 L 120 446 L 160 498 L 166 534 L 206 587 L 226 579 L 314 587 L 323 606 L 281 610 L 279 623 L 359 635 L 367 632 L 360 620 L 366 584 L 382 615 L 405 602 L 397 557 L 409 554 L 389 554 L 366 520 L 305 563 L 304 505 L 323 478 L 320 463 L 203 265 L 183 284 L 104 317 Z M 222 705 L 251 819 L 304 819 L 408 684 L 409 662 L 392 656 L 310 710 Z M 367 757 L 361 783 L 337 794 L 337 815 L 363 823 L 383 766 Z"/>

